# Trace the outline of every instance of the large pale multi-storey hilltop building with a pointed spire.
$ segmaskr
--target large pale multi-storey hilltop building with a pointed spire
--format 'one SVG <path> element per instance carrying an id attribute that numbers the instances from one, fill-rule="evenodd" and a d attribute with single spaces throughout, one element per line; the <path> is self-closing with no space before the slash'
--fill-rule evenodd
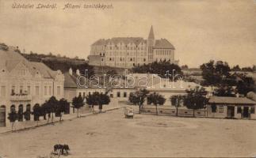
<path id="1" fill-rule="evenodd" d="M 155 40 L 153 27 L 147 40 L 142 37 L 113 37 L 100 39 L 91 45 L 89 63 L 93 66 L 132 68 L 151 62 L 169 61 L 174 58 L 174 46 L 166 39 Z"/>

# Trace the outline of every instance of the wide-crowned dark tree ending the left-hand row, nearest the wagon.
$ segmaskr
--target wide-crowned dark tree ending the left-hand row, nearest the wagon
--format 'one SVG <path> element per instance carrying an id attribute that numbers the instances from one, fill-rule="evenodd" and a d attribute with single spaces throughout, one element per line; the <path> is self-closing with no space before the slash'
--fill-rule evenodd
<path id="1" fill-rule="evenodd" d="M 92 95 L 86 96 L 86 103 L 89 105 L 98 105 L 99 112 L 102 110 L 102 105 L 109 104 L 110 98 L 107 94 L 94 92 Z"/>

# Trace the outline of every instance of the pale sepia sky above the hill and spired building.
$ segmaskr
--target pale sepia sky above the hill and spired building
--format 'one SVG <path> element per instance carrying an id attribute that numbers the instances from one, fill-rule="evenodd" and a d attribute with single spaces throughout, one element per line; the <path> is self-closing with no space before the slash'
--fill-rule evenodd
<path id="1" fill-rule="evenodd" d="M 13 3 L 34 5 L 13 9 Z M 35 9 L 56 3 L 56 9 Z M 64 5 L 113 5 L 110 9 L 63 9 Z M 26 52 L 87 58 L 90 45 L 112 37 L 165 38 L 180 65 L 209 60 L 256 65 L 256 0 L 0 0 L 0 43 Z"/>

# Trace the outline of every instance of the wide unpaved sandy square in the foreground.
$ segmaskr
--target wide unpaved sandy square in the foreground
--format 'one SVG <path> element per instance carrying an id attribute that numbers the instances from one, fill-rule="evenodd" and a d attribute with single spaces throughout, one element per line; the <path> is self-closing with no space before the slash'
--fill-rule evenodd
<path id="1" fill-rule="evenodd" d="M 49 156 L 68 144 L 63 157 L 256 156 L 256 121 L 136 115 L 122 109 L 34 130 L 0 134 L 0 156 Z"/>

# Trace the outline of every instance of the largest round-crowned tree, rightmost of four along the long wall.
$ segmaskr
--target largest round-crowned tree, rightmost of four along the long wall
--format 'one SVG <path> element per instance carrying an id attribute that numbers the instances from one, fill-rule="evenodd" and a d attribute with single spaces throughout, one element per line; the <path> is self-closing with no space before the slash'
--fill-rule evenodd
<path id="1" fill-rule="evenodd" d="M 204 96 L 205 89 L 196 87 L 186 91 L 188 94 L 184 97 L 184 105 L 193 109 L 193 117 L 195 117 L 195 110 L 204 108 L 208 99 Z"/>

